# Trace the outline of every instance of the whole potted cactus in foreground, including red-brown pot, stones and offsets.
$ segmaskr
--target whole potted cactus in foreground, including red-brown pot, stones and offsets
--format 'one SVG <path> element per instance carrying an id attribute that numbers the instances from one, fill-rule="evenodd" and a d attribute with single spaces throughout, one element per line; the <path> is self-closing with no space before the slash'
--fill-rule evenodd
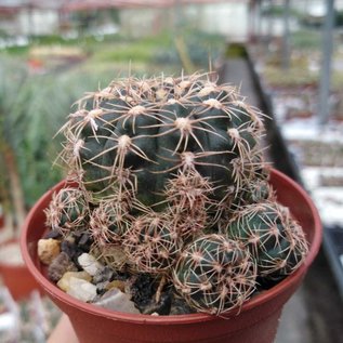
<path id="1" fill-rule="evenodd" d="M 210 74 L 119 79 L 77 104 L 67 177 L 22 249 L 79 340 L 273 342 L 321 235 L 264 160 L 263 116 Z"/>

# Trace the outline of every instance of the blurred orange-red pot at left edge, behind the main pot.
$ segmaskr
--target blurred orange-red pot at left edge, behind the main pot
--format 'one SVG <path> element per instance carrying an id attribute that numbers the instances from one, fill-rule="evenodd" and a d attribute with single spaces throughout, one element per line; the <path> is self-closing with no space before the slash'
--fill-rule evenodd
<path id="1" fill-rule="evenodd" d="M 19 241 L 17 239 L 6 240 L 0 245 L 0 249 L 3 249 L 8 245 L 19 245 Z M 16 301 L 29 296 L 34 290 L 41 291 L 39 283 L 24 263 L 14 264 L 0 261 L 0 275 L 3 283 Z"/>

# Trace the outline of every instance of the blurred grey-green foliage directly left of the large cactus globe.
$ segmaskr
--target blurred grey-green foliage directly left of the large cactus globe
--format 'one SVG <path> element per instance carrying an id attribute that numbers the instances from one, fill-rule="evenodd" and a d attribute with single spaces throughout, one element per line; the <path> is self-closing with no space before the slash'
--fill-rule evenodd
<path id="1" fill-rule="evenodd" d="M 95 80 L 81 71 L 31 76 L 23 84 L 11 118 L 12 132 L 24 133 L 14 148 L 27 207 L 62 179 L 62 170 L 51 169 L 61 143 L 52 137 L 70 110 L 76 92 L 84 91 L 90 84 L 95 87 Z"/>

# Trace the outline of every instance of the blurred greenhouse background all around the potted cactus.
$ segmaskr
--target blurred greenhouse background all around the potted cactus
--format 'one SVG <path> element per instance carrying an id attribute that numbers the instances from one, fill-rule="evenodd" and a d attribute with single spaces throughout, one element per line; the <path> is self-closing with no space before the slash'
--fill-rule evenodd
<path id="1" fill-rule="evenodd" d="M 268 160 L 311 193 L 324 223 L 277 343 L 343 342 L 343 1 L 0 0 L 1 342 L 45 342 L 61 315 L 35 286 L 15 289 L 30 285 L 17 238 L 64 176 L 55 133 L 72 104 L 117 77 L 196 70 L 271 118 Z"/>

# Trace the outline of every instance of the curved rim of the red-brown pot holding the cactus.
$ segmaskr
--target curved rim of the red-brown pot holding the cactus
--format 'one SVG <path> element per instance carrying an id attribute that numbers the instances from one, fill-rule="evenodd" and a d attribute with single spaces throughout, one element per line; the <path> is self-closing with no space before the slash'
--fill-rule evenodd
<path id="1" fill-rule="evenodd" d="M 302 265 L 294 273 L 287 276 L 282 281 L 272 287 L 271 289 L 263 291 L 260 294 L 253 295 L 240 308 L 236 308 L 236 309 L 234 308 L 232 311 L 228 311 L 226 314 L 224 313 L 221 317 L 225 319 L 235 317 L 239 315 L 240 313 L 247 312 L 253 307 L 262 305 L 266 303 L 267 301 L 269 301 L 271 299 L 278 296 L 278 294 L 282 293 L 286 289 L 292 286 L 295 286 L 299 282 L 299 279 L 305 275 L 307 268 L 314 261 L 320 248 L 321 221 L 319 217 L 319 213 L 315 205 L 313 203 L 313 200 L 309 198 L 307 193 L 302 188 L 302 186 L 300 186 L 296 182 L 291 180 L 289 176 L 285 175 L 282 172 L 272 168 L 271 173 L 275 174 L 278 179 L 283 180 L 286 183 L 291 184 L 292 188 L 294 188 L 296 193 L 301 195 L 301 197 L 303 198 L 303 201 L 307 202 L 307 206 L 311 209 L 311 213 L 314 220 L 314 225 L 313 225 L 314 235 L 313 235 L 312 243 L 309 246 L 309 251 L 304 262 L 302 263 Z M 29 272 L 34 275 L 37 281 L 41 285 L 41 287 L 48 293 L 50 293 L 53 298 L 60 300 L 61 302 L 65 303 L 66 305 L 78 307 L 82 312 L 87 312 L 95 316 L 107 317 L 113 320 L 121 320 L 126 322 L 146 324 L 146 325 L 183 325 L 183 324 L 195 324 L 199 321 L 209 321 L 209 320 L 214 320 L 217 318 L 217 316 L 215 315 L 209 315 L 203 313 L 195 313 L 195 314 L 187 314 L 187 315 L 150 316 L 150 315 L 144 315 L 144 314 L 129 314 L 129 313 L 109 311 L 109 309 L 96 306 L 94 304 L 89 304 L 80 300 L 77 300 L 76 298 L 58 289 L 53 282 L 51 282 L 48 278 L 45 278 L 42 275 L 42 273 L 37 268 L 37 266 L 35 265 L 30 256 L 30 253 L 28 250 L 28 227 L 34 216 L 34 213 L 36 213 L 37 211 L 40 211 L 39 208 L 41 207 L 41 203 L 43 202 L 43 200 L 47 197 L 49 197 L 49 195 L 51 194 L 51 192 L 53 192 L 54 188 L 57 188 L 64 182 L 65 181 L 62 181 L 57 185 L 55 185 L 53 188 L 49 189 L 35 203 L 35 206 L 31 208 L 31 210 L 29 211 L 25 220 L 23 232 L 21 235 L 21 248 L 22 248 L 23 259 Z"/>

